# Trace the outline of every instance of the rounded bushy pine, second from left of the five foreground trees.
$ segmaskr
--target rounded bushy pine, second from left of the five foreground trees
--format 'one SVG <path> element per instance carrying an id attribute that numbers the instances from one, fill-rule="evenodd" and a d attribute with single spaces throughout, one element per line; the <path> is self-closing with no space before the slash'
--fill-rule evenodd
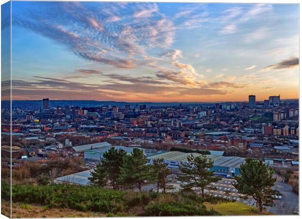
<path id="1" fill-rule="evenodd" d="M 131 154 L 127 154 L 123 158 L 121 167 L 120 182 L 127 187 L 135 185 L 139 191 L 142 191 L 144 184 L 152 181 L 151 166 L 147 165 L 148 160 L 144 151 L 133 148 Z"/>

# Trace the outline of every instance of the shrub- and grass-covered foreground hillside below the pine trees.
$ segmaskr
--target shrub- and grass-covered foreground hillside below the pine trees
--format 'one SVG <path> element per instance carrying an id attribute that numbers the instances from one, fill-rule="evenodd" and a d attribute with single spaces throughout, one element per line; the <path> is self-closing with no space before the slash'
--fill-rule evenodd
<path id="1" fill-rule="evenodd" d="M 2 182 L 6 200 L 7 186 Z M 13 185 L 12 191 L 13 218 L 259 215 L 256 208 L 242 203 L 191 193 L 139 193 L 70 184 Z M 2 200 L 1 212 L 9 213 L 8 201 Z"/>

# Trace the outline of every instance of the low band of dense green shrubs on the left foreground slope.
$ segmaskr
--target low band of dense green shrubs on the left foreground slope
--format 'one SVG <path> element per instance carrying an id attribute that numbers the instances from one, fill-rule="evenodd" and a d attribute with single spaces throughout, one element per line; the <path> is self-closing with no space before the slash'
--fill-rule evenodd
<path id="1" fill-rule="evenodd" d="M 123 208 L 124 192 L 78 185 L 13 185 L 14 202 L 37 203 L 48 208 L 116 213 Z"/>

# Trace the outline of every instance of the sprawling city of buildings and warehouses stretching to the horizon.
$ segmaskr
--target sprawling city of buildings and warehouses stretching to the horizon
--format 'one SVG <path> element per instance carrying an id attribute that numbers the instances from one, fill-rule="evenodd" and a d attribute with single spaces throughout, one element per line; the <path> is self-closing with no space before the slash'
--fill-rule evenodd
<path id="1" fill-rule="evenodd" d="M 157 159 L 168 164 L 173 190 L 179 190 L 179 165 L 188 155 L 207 151 L 214 162 L 209 171 L 221 180 L 212 183 L 216 190 L 206 193 L 256 206 L 257 201 L 242 199 L 232 185 L 240 175 L 240 165 L 253 158 L 278 175 L 275 188 L 279 194 L 275 206 L 266 207 L 268 211 L 298 211 L 298 100 L 283 100 L 278 95 L 256 101 L 255 95 L 249 95 L 246 102 L 75 105 L 76 101 L 70 101 L 68 106 L 55 106 L 48 98 L 40 101 L 37 110 L 13 104 L 11 123 L 10 111 L 2 105 L 2 166 L 11 166 L 14 172 L 29 162 L 76 158 L 80 160 L 77 171 L 51 180 L 88 185 L 91 172 L 110 148 L 127 153 L 139 148 L 148 164 Z M 150 183 L 142 189 L 156 191 L 157 187 Z"/>

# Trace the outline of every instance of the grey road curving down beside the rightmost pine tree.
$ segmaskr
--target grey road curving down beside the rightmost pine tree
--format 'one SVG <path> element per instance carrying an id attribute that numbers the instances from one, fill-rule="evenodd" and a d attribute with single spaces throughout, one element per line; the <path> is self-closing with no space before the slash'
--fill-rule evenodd
<path id="1" fill-rule="evenodd" d="M 292 215 L 294 211 L 299 212 L 299 196 L 293 192 L 293 188 L 282 182 L 280 175 L 275 175 L 277 181 L 274 189 L 277 189 L 282 194 L 282 200 L 276 200 L 275 206 L 266 209 L 276 215 Z"/>

